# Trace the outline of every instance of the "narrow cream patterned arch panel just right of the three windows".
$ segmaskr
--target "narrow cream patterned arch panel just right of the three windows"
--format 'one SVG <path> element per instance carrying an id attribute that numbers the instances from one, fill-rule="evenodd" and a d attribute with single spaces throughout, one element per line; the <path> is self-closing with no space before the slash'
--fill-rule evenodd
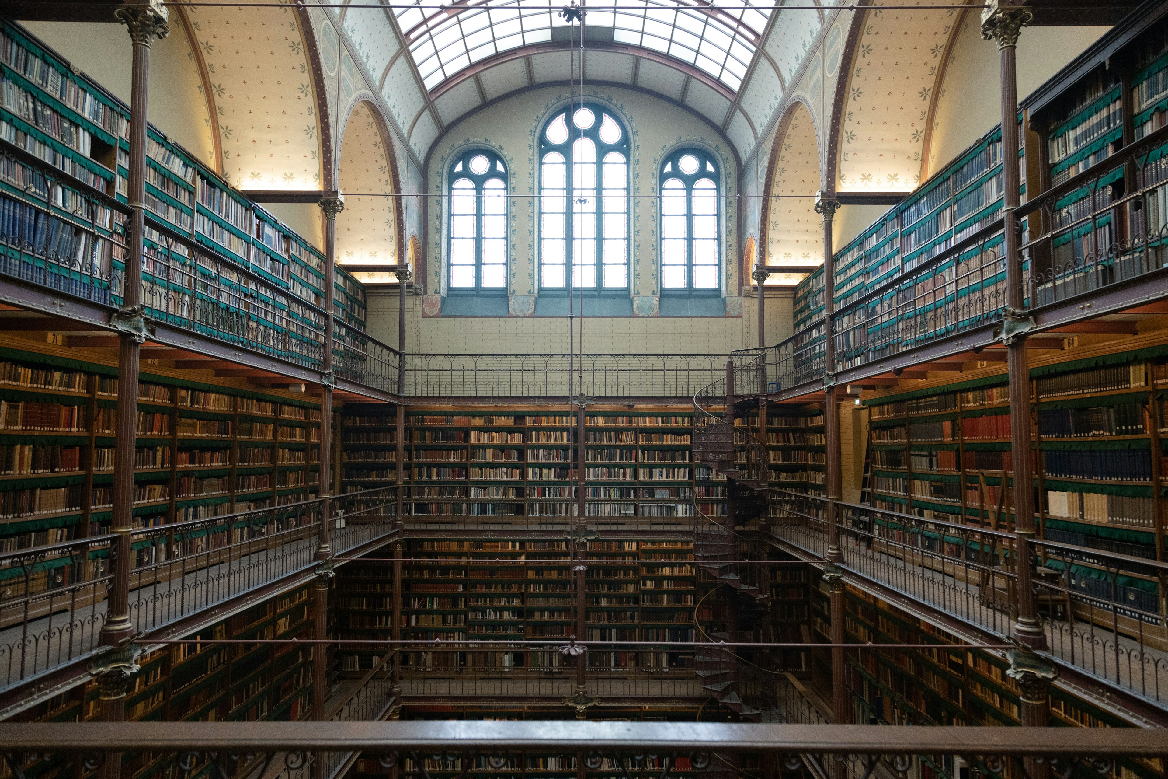
<path id="1" fill-rule="evenodd" d="M 807 110 L 791 117 L 774 160 L 772 195 L 807 195 L 819 189 L 819 144 Z M 766 264 L 819 265 L 823 262 L 823 222 L 814 197 L 776 197 L 766 209 Z M 783 283 L 772 277 L 770 283 Z"/>

